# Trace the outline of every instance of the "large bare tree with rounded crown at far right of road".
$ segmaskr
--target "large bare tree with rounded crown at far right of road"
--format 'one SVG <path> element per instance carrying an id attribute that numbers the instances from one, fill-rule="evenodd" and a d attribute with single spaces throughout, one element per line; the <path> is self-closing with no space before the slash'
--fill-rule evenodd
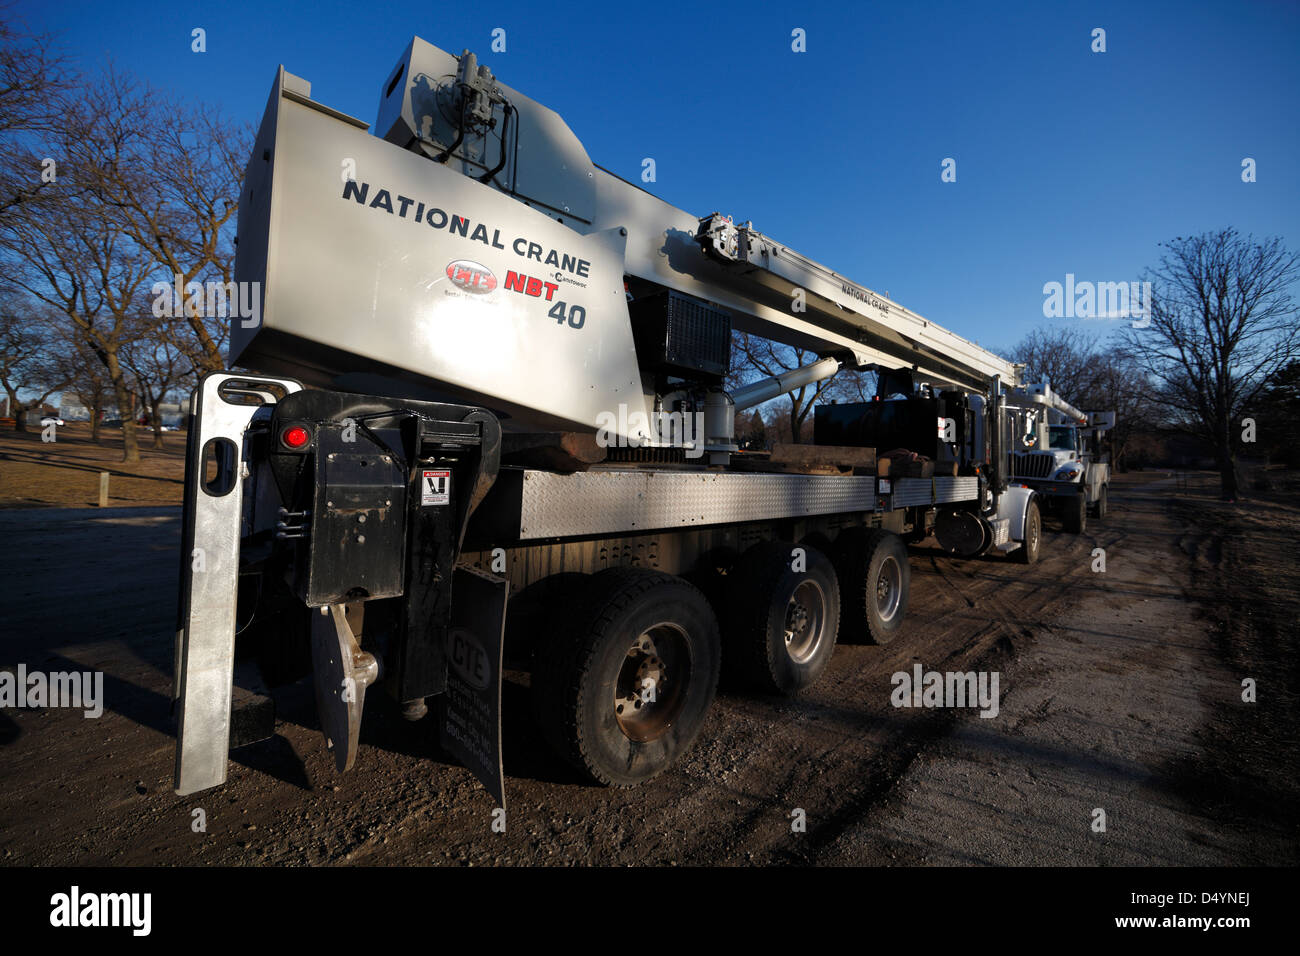
<path id="1" fill-rule="evenodd" d="M 1153 401 L 1209 442 L 1219 493 L 1236 501 L 1243 414 L 1300 354 L 1288 291 L 1300 278 L 1300 255 L 1280 238 L 1256 242 L 1235 229 L 1161 245 L 1166 255 L 1144 276 L 1152 282 L 1149 324 L 1126 329 L 1123 346 L 1153 384 Z"/>

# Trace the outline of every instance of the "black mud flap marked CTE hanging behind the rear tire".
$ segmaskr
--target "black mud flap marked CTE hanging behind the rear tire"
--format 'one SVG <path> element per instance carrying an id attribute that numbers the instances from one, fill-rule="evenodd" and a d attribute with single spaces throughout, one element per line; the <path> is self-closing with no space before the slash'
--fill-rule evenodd
<path id="1" fill-rule="evenodd" d="M 443 749 L 473 771 L 502 809 L 500 678 L 508 593 L 504 578 L 456 568 L 447 630 L 447 689 L 438 723 Z"/>

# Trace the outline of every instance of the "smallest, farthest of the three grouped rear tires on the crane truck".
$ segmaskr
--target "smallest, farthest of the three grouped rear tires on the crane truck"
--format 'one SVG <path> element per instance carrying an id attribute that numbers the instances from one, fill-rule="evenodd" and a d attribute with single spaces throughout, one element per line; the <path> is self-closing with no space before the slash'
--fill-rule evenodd
<path id="1" fill-rule="evenodd" d="M 881 528 L 846 531 L 836 544 L 844 596 L 841 633 L 854 643 L 888 644 L 907 614 L 911 566 L 906 545 Z"/>

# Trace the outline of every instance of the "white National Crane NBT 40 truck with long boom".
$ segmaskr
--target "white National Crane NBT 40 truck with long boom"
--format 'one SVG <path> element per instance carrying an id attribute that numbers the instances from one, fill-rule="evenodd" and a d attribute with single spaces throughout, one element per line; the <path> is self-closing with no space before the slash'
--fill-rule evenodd
<path id="1" fill-rule="evenodd" d="M 339 771 L 382 691 L 504 806 L 510 667 L 559 758 L 634 786 L 720 674 L 793 695 L 837 640 L 894 639 L 909 542 L 1037 559 L 1019 367 L 597 165 L 468 51 L 413 39 L 373 134 L 281 68 L 235 280 L 257 320 L 192 399 L 177 793 L 225 782 L 246 659 L 312 675 Z M 734 332 L 819 359 L 728 390 Z M 737 446 L 737 411 L 841 368 L 874 401 L 784 457 Z"/>

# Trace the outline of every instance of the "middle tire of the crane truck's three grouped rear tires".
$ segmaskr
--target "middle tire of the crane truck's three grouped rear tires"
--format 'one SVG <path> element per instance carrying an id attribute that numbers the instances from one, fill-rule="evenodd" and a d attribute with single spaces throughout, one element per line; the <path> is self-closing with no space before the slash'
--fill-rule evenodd
<path id="1" fill-rule="evenodd" d="M 802 549 L 793 570 L 794 551 Z M 810 687 L 835 653 L 840 584 L 831 559 L 809 544 L 750 548 L 728 575 L 723 674 L 763 693 Z"/>

